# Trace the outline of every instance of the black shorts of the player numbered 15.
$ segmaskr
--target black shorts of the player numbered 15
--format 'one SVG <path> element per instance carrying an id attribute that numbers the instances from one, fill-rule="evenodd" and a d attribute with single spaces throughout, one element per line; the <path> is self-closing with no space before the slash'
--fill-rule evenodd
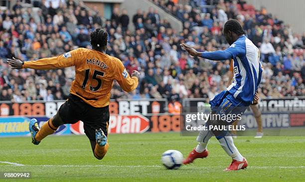
<path id="1" fill-rule="evenodd" d="M 79 120 L 84 122 L 84 130 L 90 140 L 95 141 L 95 130 L 102 129 L 108 135 L 109 106 L 93 107 L 76 95 L 70 94 L 63 103 L 58 114 L 65 124 L 74 124 Z"/>

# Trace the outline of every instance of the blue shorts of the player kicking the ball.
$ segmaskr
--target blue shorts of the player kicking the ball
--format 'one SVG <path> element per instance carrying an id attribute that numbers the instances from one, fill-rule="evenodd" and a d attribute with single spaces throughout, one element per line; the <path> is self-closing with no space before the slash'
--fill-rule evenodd
<path id="1" fill-rule="evenodd" d="M 209 102 L 211 105 L 212 113 L 220 115 L 232 115 L 232 114 L 243 114 L 248 108 L 249 104 L 234 98 L 234 96 L 229 91 L 222 91 L 215 95 Z M 226 121 L 227 124 L 232 124 L 233 121 Z"/>

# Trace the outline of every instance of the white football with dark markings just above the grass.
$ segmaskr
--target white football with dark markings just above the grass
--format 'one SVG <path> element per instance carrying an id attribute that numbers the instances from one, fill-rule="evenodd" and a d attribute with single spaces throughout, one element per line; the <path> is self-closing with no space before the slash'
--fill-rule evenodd
<path id="1" fill-rule="evenodd" d="M 180 168 L 183 155 L 177 150 L 168 150 L 162 154 L 161 158 L 163 166 L 168 170 L 176 170 Z"/>

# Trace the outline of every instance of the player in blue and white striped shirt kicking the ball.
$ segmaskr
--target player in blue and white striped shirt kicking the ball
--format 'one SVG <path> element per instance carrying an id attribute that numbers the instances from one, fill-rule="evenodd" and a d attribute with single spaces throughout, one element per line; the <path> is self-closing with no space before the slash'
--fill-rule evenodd
<path id="1" fill-rule="evenodd" d="M 223 51 L 197 52 L 195 49 L 181 44 L 191 56 L 199 56 L 209 60 L 224 61 L 233 59 L 234 77 L 232 84 L 210 100 L 212 113 L 215 114 L 242 114 L 247 107 L 259 98 L 256 94 L 261 82 L 262 68 L 259 49 L 245 36 L 243 27 L 235 19 L 228 20 L 223 27 L 223 34 L 230 47 Z M 210 119 L 206 126 L 227 126 L 234 122 L 221 119 Z M 209 128 L 209 127 L 208 127 Z M 221 127 L 220 127 L 221 128 Z M 205 158 L 208 155 L 207 144 L 215 135 L 222 148 L 232 157 L 232 163 L 225 171 L 235 171 L 248 166 L 247 160 L 239 153 L 233 143 L 232 136 L 226 131 L 202 130 L 197 141 L 199 144 L 190 152 L 183 164 L 192 163 L 196 158 Z"/>

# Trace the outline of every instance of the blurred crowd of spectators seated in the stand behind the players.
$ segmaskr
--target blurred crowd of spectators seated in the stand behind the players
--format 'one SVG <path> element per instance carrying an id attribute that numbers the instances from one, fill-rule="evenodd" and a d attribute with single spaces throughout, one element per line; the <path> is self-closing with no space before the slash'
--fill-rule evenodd
<path id="1" fill-rule="evenodd" d="M 242 1 L 229 0 L 216 0 L 210 4 L 214 8 L 200 6 L 208 1 L 189 0 L 182 5 L 176 0 L 153 0 L 183 22 L 183 31 L 177 32 L 153 8 L 148 12 L 139 9 L 133 17 L 126 9 L 120 12 L 114 8 L 111 19 L 103 21 L 96 9 L 88 10 L 82 1 L 41 0 L 34 13 L 17 0 L 12 10 L 0 10 L 0 100 L 65 99 L 74 68 L 18 71 L 11 70 L 6 59 L 37 60 L 78 47 L 91 48 L 90 32 L 101 26 L 109 33 L 107 53 L 120 58 L 129 73 L 141 73 L 137 90 L 124 92 L 115 82 L 112 98 L 211 98 L 230 82 L 226 75 L 230 60 L 190 57 L 179 44 L 200 51 L 225 49 L 228 44 L 222 26 L 229 18 L 238 19 L 261 49 L 264 72 L 260 97 L 305 95 L 305 34 L 294 34 L 289 25 L 264 8 L 253 11 Z M 129 24 L 135 27 L 134 32 L 128 29 Z"/>

